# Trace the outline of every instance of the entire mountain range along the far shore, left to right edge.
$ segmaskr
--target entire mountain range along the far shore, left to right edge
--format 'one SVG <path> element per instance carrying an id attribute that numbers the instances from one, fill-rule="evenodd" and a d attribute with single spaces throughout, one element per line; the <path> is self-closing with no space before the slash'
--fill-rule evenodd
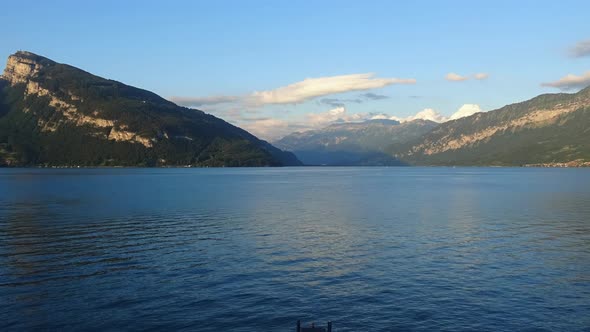
<path id="1" fill-rule="evenodd" d="M 271 145 L 30 52 L 0 76 L 0 166 L 589 165 L 589 134 L 590 87 L 443 123 L 334 123 Z"/>

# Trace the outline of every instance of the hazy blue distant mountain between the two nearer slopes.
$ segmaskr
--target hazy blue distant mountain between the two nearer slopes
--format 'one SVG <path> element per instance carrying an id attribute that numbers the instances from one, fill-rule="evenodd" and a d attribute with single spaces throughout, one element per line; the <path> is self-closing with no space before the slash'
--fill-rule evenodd
<path id="1" fill-rule="evenodd" d="M 306 165 L 389 165 L 405 163 L 385 153 L 392 144 L 416 139 L 438 124 L 428 120 L 337 123 L 290 134 L 274 144 L 293 151 Z"/>

